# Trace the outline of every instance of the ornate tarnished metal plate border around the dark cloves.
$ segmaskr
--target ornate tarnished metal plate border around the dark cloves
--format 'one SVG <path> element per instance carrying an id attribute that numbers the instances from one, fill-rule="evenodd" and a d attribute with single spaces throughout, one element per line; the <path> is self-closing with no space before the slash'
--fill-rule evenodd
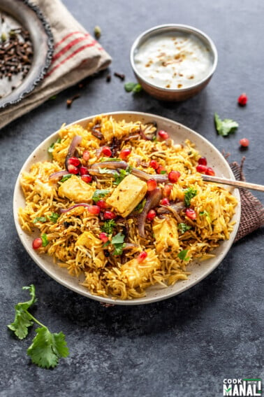
<path id="1" fill-rule="evenodd" d="M 1 13 L 10 15 L 18 25 L 29 31 L 34 50 L 31 68 L 27 76 L 15 90 L 0 99 L 0 109 L 3 109 L 20 102 L 43 80 L 52 60 L 53 36 L 50 25 L 39 8 L 27 0 L 0 0 Z M 0 80 L 0 95 L 3 92 L 4 83 L 6 81 Z"/>

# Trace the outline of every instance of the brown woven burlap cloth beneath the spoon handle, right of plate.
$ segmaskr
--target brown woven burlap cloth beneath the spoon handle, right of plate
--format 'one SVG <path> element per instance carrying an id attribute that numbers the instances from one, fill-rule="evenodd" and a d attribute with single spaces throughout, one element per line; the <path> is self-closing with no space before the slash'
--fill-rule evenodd
<path id="1" fill-rule="evenodd" d="M 246 180 L 243 173 L 244 160 L 245 158 L 242 158 L 240 165 L 237 162 L 230 163 L 235 179 L 238 181 Z M 240 197 L 241 218 L 235 242 L 264 225 L 263 204 L 247 189 L 240 189 Z"/>

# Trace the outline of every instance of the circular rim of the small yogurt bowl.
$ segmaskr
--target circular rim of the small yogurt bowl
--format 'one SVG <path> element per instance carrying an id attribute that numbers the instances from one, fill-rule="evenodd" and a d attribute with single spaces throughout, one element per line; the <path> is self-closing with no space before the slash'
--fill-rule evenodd
<path id="1" fill-rule="evenodd" d="M 198 83 L 193 83 L 192 85 L 189 85 L 189 87 L 186 87 L 186 88 L 161 87 L 160 85 L 155 85 L 153 83 L 150 83 L 148 80 L 146 80 L 144 78 L 144 76 L 142 76 L 142 74 L 140 74 L 138 72 L 138 69 L 135 67 L 134 53 L 135 53 L 135 50 L 139 47 L 140 41 L 142 41 L 142 39 L 144 39 L 144 37 L 147 36 L 148 34 L 154 34 L 155 32 L 158 33 L 159 30 L 161 31 L 159 33 L 162 33 L 162 30 L 167 29 L 167 28 L 170 28 L 172 32 L 173 32 L 173 30 L 181 30 L 181 29 L 189 30 L 190 33 L 193 33 L 196 36 L 199 36 L 199 35 L 203 36 L 203 38 L 205 40 L 207 40 L 207 42 L 209 43 L 210 52 L 212 53 L 212 55 L 214 57 L 214 61 L 212 64 L 212 68 L 210 69 L 208 74 L 202 80 L 198 81 Z M 184 25 L 184 24 L 164 24 L 164 25 L 157 25 L 157 26 L 151 27 L 150 29 L 145 30 L 145 32 L 142 32 L 135 39 L 135 41 L 133 42 L 133 44 L 131 46 L 131 50 L 130 50 L 130 62 L 131 62 L 131 67 L 133 69 L 135 76 L 140 78 L 140 80 L 142 80 L 146 85 L 149 85 L 150 87 L 155 88 L 156 90 L 159 90 L 161 92 L 168 92 L 168 93 L 189 92 L 190 90 L 193 90 L 193 88 L 203 85 L 203 83 L 205 83 L 205 81 L 207 81 L 209 78 L 212 77 L 212 75 L 214 74 L 214 71 L 217 69 L 218 53 L 217 53 L 217 47 L 215 46 L 214 41 L 212 41 L 210 36 L 205 34 L 202 30 L 197 29 L 196 27 L 192 27 L 190 25 Z"/>

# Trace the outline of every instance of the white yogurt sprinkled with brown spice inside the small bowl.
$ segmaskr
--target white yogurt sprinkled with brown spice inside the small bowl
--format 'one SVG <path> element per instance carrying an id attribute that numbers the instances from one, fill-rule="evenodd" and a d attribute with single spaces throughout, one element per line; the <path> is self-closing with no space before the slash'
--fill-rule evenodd
<path id="1" fill-rule="evenodd" d="M 210 50 L 193 34 L 163 33 L 147 39 L 134 55 L 135 69 L 148 83 L 179 90 L 210 74 Z"/>

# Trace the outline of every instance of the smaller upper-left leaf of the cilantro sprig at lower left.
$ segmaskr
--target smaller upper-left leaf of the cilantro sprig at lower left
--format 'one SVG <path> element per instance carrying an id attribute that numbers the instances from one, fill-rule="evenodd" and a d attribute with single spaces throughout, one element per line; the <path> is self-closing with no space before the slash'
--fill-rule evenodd
<path id="1" fill-rule="evenodd" d="M 15 335 L 19 339 L 24 339 L 24 337 L 28 334 L 28 329 L 33 325 L 34 321 L 31 319 L 31 315 L 27 313 L 25 310 L 29 309 L 31 305 L 34 305 L 36 302 L 35 296 L 35 287 L 33 284 L 28 287 L 23 287 L 22 289 L 29 289 L 29 293 L 31 295 L 31 299 L 27 302 L 20 302 L 15 305 L 15 320 L 13 323 L 8 325 L 10 330 L 13 330 Z"/>

